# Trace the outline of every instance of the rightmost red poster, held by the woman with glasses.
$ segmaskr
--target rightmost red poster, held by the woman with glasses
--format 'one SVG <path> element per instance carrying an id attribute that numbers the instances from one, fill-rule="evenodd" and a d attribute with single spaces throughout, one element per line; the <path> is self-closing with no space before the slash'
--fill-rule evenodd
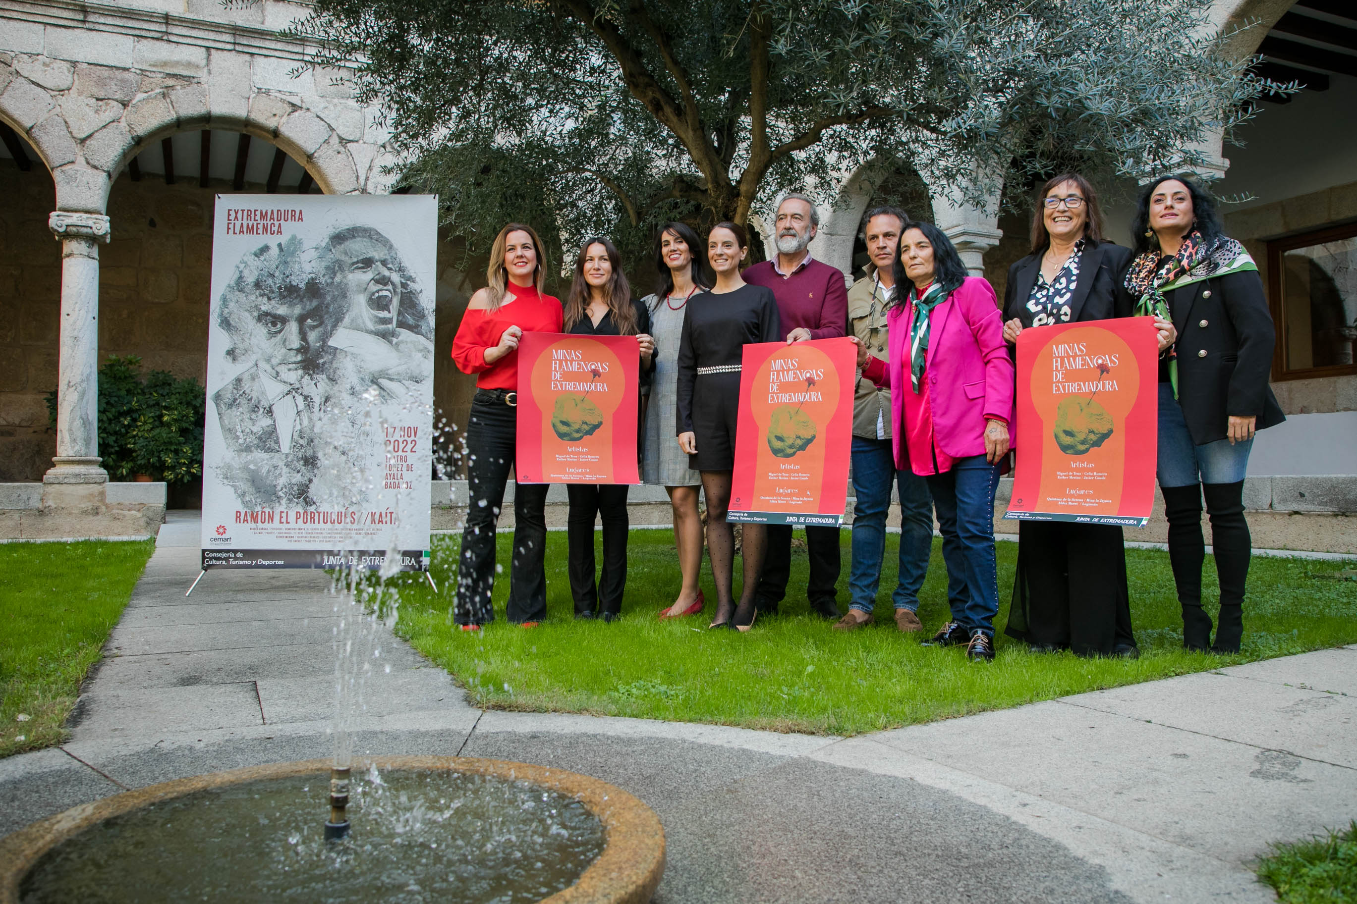
<path id="1" fill-rule="evenodd" d="M 1018 336 L 1016 469 L 1004 518 L 1144 527 L 1155 504 L 1152 317 Z"/>

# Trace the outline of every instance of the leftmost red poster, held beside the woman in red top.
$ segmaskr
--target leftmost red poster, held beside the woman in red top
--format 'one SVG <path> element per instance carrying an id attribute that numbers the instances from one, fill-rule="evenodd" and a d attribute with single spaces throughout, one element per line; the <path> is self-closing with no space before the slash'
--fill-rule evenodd
<path id="1" fill-rule="evenodd" d="M 518 340 L 520 484 L 639 484 L 639 415 L 635 336 L 529 332 Z"/>

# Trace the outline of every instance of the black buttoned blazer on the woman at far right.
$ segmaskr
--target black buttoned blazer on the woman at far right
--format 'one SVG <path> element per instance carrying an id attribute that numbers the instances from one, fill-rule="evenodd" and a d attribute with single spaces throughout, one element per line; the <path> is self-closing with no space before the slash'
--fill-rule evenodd
<path id="1" fill-rule="evenodd" d="M 1178 404 L 1191 440 L 1224 439 L 1231 415 L 1255 416 L 1258 430 L 1286 420 L 1267 385 L 1277 335 L 1258 272 L 1204 279 L 1166 298 L 1178 329 Z"/>

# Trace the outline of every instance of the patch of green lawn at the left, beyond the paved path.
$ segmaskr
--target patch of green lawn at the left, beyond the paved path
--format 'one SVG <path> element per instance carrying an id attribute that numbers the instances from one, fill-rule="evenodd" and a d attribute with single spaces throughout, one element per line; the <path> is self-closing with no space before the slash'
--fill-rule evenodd
<path id="1" fill-rule="evenodd" d="M 0 543 L 0 756 L 65 740 L 153 541 Z"/>

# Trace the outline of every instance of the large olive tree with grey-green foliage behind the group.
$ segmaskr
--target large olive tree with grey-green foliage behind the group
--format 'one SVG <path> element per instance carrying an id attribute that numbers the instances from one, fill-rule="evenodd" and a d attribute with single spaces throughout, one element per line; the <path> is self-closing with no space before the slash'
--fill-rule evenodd
<path id="1" fill-rule="evenodd" d="M 411 186 L 474 244 L 662 218 L 746 222 L 900 161 L 980 201 L 1053 168 L 1141 175 L 1266 85 L 1210 0 L 316 0 Z M 622 234 L 626 241 L 626 234 Z"/>

